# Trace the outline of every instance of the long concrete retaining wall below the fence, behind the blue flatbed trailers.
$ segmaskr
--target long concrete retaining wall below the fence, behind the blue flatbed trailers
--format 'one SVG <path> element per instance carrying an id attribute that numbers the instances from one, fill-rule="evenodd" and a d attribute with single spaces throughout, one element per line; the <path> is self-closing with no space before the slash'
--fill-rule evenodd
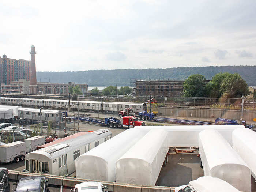
<path id="1" fill-rule="evenodd" d="M 166 108 L 158 107 L 158 114 L 174 117 L 195 117 L 195 118 L 228 118 L 240 120 L 241 110 L 232 109 L 199 109 L 199 108 Z M 256 118 L 256 111 L 244 110 L 243 118 L 252 121 Z"/>

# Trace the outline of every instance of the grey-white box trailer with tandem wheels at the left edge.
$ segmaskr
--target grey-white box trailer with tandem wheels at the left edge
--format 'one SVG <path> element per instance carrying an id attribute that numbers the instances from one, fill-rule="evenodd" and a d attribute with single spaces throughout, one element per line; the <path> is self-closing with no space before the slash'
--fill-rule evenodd
<path id="1" fill-rule="evenodd" d="M 26 155 L 26 142 L 15 141 L 0 146 L 0 162 L 8 163 L 11 161 L 19 162 L 24 160 Z"/>

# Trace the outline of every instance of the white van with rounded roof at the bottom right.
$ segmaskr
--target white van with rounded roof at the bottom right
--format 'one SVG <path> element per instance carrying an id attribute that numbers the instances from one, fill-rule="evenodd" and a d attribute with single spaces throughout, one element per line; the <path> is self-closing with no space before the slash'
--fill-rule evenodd
<path id="1" fill-rule="evenodd" d="M 175 188 L 175 192 L 239 192 L 228 182 L 217 177 L 204 176 L 190 181 L 188 185 Z"/>

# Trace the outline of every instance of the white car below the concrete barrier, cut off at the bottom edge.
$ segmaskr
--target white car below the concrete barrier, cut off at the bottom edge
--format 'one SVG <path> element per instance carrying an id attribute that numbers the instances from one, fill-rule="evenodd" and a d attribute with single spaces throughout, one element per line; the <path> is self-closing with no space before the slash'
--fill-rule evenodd
<path id="1" fill-rule="evenodd" d="M 92 191 L 90 189 L 94 189 L 94 192 L 106 192 L 108 191 L 108 187 L 103 186 L 101 182 L 82 182 L 80 184 L 76 184 L 74 189 L 71 189 L 71 192 L 84 192 L 84 191 Z"/>

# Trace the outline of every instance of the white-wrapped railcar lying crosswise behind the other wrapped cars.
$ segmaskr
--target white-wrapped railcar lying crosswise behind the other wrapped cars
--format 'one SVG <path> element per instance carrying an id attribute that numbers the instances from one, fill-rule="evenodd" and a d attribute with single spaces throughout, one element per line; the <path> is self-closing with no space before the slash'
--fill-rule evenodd
<path id="1" fill-rule="evenodd" d="M 135 126 L 135 129 L 149 131 L 165 129 L 168 132 L 169 147 L 198 147 L 198 135 L 204 129 L 215 129 L 232 145 L 232 132 L 243 125 L 184 125 L 184 126 Z"/>

